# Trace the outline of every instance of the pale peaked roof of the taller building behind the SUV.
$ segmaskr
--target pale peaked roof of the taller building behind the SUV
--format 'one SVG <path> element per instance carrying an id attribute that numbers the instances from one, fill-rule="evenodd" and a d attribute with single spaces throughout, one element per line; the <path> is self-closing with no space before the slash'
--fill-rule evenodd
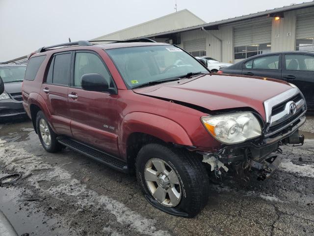
<path id="1" fill-rule="evenodd" d="M 149 34 L 156 34 L 164 31 L 183 29 L 205 23 L 205 21 L 203 21 L 201 18 L 199 18 L 189 10 L 183 9 L 181 11 L 156 18 L 154 20 L 147 21 L 139 25 L 106 34 L 93 40 L 125 40 L 135 37 L 142 37 Z"/>

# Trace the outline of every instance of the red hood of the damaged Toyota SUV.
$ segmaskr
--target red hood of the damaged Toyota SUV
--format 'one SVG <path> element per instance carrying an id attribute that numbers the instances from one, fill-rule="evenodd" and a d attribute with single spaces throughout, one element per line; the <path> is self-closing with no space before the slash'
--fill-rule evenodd
<path id="1" fill-rule="evenodd" d="M 286 82 L 230 75 L 202 75 L 151 87 L 134 89 L 134 92 L 157 98 L 196 105 L 210 111 L 250 107 L 264 119 L 263 102 L 291 89 Z"/>

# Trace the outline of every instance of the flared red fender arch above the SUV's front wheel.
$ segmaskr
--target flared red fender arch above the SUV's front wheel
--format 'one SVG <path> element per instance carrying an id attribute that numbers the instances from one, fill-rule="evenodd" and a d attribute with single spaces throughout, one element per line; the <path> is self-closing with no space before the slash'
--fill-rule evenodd
<path id="1" fill-rule="evenodd" d="M 121 123 L 119 149 L 126 156 L 127 141 L 132 133 L 139 132 L 154 136 L 166 143 L 193 146 L 185 129 L 177 122 L 150 113 L 133 112 L 126 115 Z"/>

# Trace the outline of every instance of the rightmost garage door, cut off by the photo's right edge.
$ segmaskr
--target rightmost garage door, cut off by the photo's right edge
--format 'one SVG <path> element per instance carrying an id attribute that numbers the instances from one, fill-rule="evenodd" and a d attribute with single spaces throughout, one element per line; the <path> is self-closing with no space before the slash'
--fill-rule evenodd
<path id="1" fill-rule="evenodd" d="M 314 14 L 297 16 L 295 49 L 314 51 Z"/>

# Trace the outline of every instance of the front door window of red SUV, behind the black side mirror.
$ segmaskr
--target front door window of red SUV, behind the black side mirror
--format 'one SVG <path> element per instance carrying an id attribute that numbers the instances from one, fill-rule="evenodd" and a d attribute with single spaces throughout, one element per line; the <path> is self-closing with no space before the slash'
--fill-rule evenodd
<path id="1" fill-rule="evenodd" d="M 108 85 L 113 88 L 111 75 L 103 61 L 98 56 L 92 53 L 76 53 L 74 67 L 74 86 L 81 87 L 82 75 L 89 73 L 98 73 L 104 76 Z"/>

